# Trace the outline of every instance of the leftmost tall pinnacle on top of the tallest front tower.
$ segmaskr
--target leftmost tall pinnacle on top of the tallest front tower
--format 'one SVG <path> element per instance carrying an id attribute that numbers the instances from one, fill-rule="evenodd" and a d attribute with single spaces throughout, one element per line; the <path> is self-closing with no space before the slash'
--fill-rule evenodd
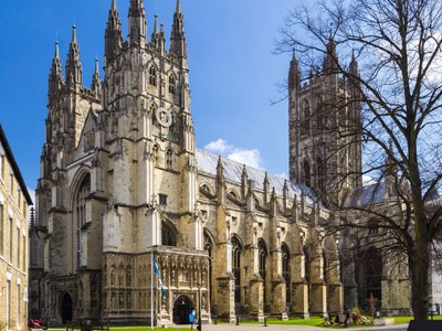
<path id="1" fill-rule="evenodd" d="M 112 62 L 123 45 L 122 22 L 119 21 L 117 1 L 112 0 L 109 17 L 106 23 L 105 58 L 106 64 Z"/>

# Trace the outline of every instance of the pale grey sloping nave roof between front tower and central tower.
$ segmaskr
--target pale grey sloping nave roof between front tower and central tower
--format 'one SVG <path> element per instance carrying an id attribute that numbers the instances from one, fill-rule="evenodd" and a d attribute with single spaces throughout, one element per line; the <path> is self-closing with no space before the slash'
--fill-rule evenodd
<path id="1" fill-rule="evenodd" d="M 219 156 L 203 149 L 197 149 L 196 157 L 197 168 L 199 172 L 217 175 Z M 222 167 L 224 169 L 224 177 L 227 180 L 235 182 L 238 184 L 241 183 L 244 164 L 229 159 L 222 159 Z M 253 180 L 256 185 L 264 183 L 265 170 L 252 168 L 249 166 L 245 166 L 245 170 L 248 172 L 249 180 Z M 304 191 L 304 193 L 306 194 L 306 202 L 308 204 L 313 204 L 316 201 L 316 196 L 313 191 L 303 184 L 295 184 L 283 177 L 270 173 L 267 173 L 267 178 L 270 182 L 270 188 L 275 188 L 276 194 L 283 194 L 284 182 L 287 181 L 288 199 L 294 199 L 295 195 L 299 197 L 301 192 Z"/>

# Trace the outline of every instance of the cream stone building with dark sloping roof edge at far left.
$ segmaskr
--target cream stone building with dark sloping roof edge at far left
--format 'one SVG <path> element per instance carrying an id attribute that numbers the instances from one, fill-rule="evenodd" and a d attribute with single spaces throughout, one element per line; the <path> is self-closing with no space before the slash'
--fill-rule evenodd
<path id="1" fill-rule="evenodd" d="M 27 185 L 0 126 L 0 323 L 28 330 Z"/>

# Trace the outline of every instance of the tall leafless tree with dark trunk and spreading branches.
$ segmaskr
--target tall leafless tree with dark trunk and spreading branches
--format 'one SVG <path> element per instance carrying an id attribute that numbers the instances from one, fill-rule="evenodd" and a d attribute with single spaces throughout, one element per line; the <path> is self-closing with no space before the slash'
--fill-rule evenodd
<path id="1" fill-rule="evenodd" d="M 350 104 L 360 105 L 360 118 L 349 117 L 338 129 L 339 139 L 347 142 L 335 152 L 360 142 L 365 156 L 360 173 L 334 173 L 328 185 L 343 194 L 323 192 L 340 215 L 328 232 L 351 228 L 367 243 L 364 236 L 376 226 L 370 244 L 377 242 L 391 259 L 407 256 L 414 318 L 428 319 L 431 255 L 438 256 L 442 236 L 442 207 L 434 196 L 442 179 L 442 2 L 349 0 L 314 6 L 287 15 L 276 50 L 296 51 L 301 67 L 309 72 L 302 79 L 336 76 L 356 90 L 325 97 L 325 107 L 328 114 L 339 114 Z M 337 52 L 330 50 L 335 46 Z M 336 54 L 347 63 L 352 57 L 352 65 L 343 65 Z M 332 61 L 328 71 L 318 63 L 324 57 Z M 345 192 L 348 178 L 360 182 L 361 175 L 370 177 L 372 185 Z"/>

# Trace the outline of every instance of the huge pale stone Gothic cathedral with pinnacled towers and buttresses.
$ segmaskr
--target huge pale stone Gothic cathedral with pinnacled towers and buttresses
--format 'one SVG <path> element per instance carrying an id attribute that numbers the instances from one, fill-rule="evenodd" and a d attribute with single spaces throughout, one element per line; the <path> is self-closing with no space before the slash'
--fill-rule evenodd
<path id="1" fill-rule="evenodd" d="M 356 89 L 339 77 L 301 84 L 294 55 L 290 180 L 222 159 L 196 148 L 180 1 L 168 50 L 157 20 L 148 38 L 144 1 L 129 6 L 125 40 L 112 1 L 104 77 L 96 63 L 91 87 L 76 28 L 64 71 L 55 44 L 31 228 L 30 317 L 167 325 L 189 323 L 193 309 L 209 323 L 351 308 L 357 279 L 343 268 L 345 241 L 324 239 L 335 215 L 318 197 L 329 173 L 361 172 L 361 146 L 320 132 L 324 118 L 340 120 L 318 105 L 324 89 L 350 97 Z M 328 47 L 336 55 L 333 41 Z M 326 57 L 323 70 L 330 66 Z M 355 60 L 350 66 L 357 73 Z M 324 114 L 313 119 L 313 107 Z M 345 114 L 360 120 L 357 105 Z M 347 148 L 332 158 L 337 143 Z M 343 185 L 362 183 L 349 175 Z"/>

